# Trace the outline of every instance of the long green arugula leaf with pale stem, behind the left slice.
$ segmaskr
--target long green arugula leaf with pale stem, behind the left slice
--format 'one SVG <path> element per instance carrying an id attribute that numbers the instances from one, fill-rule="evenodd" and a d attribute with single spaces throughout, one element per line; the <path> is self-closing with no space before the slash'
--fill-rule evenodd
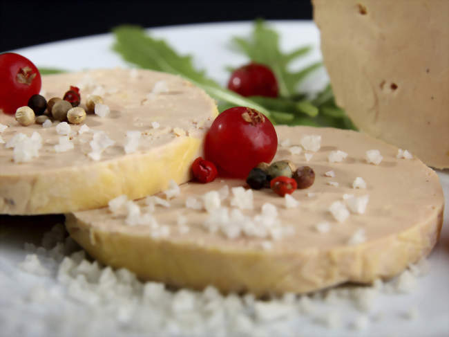
<path id="1" fill-rule="evenodd" d="M 216 100 L 228 102 L 233 106 L 251 107 L 269 117 L 269 111 L 265 107 L 233 91 L 223 89 L 217 82 L 208 78 L 204 71 L 194 68 L 191 56 L 178 55 L 169 44 L 147 35 L 142 28 L 119 26 L 114 28 L 113 32 L 116 39 L 113 48 L 127 62 L 144 69 L 181 75 Z"/>

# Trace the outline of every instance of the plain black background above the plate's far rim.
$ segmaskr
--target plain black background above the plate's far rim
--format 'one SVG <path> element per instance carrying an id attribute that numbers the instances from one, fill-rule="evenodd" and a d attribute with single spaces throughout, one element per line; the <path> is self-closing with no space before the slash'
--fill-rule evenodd
<path id="1" fill-rule="evenodd" d="M 21 1 L 0 0 L 0 52 L 71 37 L 197 22 L 312 19 L 309 0 Z"/>

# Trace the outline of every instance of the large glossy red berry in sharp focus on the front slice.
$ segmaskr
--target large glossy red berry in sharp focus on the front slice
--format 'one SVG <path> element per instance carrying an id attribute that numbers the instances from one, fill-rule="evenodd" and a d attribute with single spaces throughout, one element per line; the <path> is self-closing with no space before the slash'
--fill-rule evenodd
<path id="1" fill-rule="evenodd" d="M 278 136 L 267 117 L 254 109 L 233 107 L 213 121 L 204 154 L 221 174 L 246 179 L 258 163 L 271 162 L 277 147 Z"/>

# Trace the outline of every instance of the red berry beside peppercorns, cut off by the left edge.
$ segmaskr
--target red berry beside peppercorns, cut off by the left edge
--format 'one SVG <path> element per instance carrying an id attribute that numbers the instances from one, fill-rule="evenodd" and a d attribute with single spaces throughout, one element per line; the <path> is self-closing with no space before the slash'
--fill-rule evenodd
<path id="1" fill-rule="evenodd" d="M 16 53 L 0 55 L 0 111 L 14 114 L 41 91 L 41 74 L 30 60 Z"/>

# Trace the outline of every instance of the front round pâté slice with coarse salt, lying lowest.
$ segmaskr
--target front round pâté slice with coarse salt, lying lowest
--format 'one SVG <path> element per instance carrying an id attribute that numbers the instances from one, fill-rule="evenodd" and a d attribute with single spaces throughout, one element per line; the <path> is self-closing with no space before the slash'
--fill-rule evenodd
<path id="1" fill-rule="evenodd" d="M 316 174 L 293 199 L 236 179 L 189 182 L 172 199 L 122 197 L 67 215 L 68 232 L 99 261 L 145 280 L 258 295 L 372 282 L 430 253 L 443 192 L 419 159 L 397 158 L 396 147 L 355 131 L 276 130 L 274 160 Z"/>

